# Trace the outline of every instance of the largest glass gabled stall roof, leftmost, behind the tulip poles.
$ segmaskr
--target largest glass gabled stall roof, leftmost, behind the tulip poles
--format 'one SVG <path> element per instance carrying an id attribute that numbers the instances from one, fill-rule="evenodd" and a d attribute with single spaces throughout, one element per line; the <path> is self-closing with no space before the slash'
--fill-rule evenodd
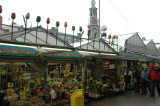
<path id="1" fill-rule="evenodd" d="M 11 28 L 11 26 L 7 26 L 7 27 Z M 25 43 L 32 44 L 37 47 L 37 50 L 39 52 L 43 52 L 43 53 L 55 52 L 56 49 L 50 49 L 50 48 L 53 48 L 53 46 L 55 48 L 61 48 L 61 50 L 67 49 L 67 48 L 74 49 L 70 44 L 68 44 L 67 42 L 64 42 L 63 39 L 59 38 L 58 36 L 59 32 L 54 32 L 54 33 L 48 32 L 46 29 L 42 28 L 41 26 L 27 28 L 26 35 L 25 35 L 25 28 L 23 27 L 14 26 L 13 29 L 14 29 L 13 33 L 9 30 L 9 32 L 0 34 L 0 39 L 11 41 L 11 35 L 12 35 L 13 36 L 12 41 L 15 41 L 17 43 L 23 42 L 24 44 Z"/>

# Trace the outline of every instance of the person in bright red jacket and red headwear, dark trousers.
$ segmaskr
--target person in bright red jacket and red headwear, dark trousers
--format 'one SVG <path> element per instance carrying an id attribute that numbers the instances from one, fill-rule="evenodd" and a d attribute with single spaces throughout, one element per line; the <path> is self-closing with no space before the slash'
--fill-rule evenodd
<path id="1" fill-rule="evenodd" d="M 148 75 L 148 79 L 151 81 L 151 97 L 155 96 L 155 84 L 156 84 L 156 71 L 153 64 L 149 65 L 150 72 Z"/>

